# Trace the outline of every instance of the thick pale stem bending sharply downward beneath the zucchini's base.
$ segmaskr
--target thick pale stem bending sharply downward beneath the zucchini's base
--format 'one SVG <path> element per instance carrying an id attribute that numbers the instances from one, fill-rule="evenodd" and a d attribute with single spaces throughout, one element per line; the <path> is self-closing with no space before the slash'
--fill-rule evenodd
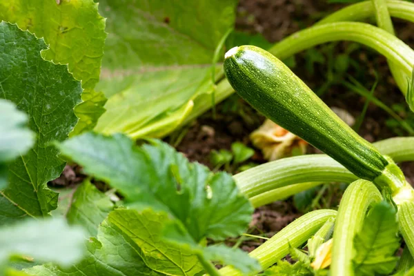
<path id="1" fill-rule="evenodd" d="M 346 189 L 333 231 L 331 275 L 354 275 L 353 239 L 362 227 L 368 207 L 381 200 L 380 191 L 370 181 L 359 179 Z"/>

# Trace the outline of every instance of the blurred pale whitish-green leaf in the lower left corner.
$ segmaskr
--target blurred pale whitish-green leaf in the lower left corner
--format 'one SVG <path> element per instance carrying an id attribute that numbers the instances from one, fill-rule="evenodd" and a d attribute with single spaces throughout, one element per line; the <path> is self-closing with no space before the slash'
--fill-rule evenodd
<path id="1" fill-rule="evenodd" d="M 69 266 L 83 257 L 85 233 L 64 219 L 27 220 L 0 228 L 0 264 L 10 255 Z M 2 275 L 1 271 L 0 274 Z"/>

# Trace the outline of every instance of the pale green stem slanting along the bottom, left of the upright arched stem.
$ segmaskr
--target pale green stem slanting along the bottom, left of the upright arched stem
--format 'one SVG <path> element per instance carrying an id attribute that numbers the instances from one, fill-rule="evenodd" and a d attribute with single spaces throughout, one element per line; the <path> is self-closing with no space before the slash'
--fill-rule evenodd
<path id="1" fill-rule="evenodd" d="M 249 255 L 256 258 L 262 268 L 266 269 L 288 255 L 289 244 L 293 247 L 301 246 L 315 235 L 328 219 L 335 217 L 336 213 L 335 210 L 315 210 L 307 213 L 280 230 L 279 233 L 268 239 Z M 242 275 L 230 266 L 221 268 L 219 272 L 226 276 Z M 256 273 L 259 273 L 259 271 L 256 271 Z"/>

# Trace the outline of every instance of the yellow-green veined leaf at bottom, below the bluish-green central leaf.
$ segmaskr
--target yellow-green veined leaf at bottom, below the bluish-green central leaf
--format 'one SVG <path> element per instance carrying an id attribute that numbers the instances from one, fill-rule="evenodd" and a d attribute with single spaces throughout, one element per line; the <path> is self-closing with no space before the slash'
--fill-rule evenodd
<path id="1" fill-rule="evenodd" d="M 52 264 L 26 270 L 42 276 L 195 275 L 197 257 L 182 246 L 161 240 L 167 215 L 152 210 L 114 210 L 99 226 L 97 239 L 88 242 L 88 255 L 70 268 Z"/>

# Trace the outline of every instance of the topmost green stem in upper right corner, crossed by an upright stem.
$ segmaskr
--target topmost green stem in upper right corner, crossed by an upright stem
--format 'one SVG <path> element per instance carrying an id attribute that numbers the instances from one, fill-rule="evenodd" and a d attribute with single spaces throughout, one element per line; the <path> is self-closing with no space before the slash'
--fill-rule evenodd
<path id="1" fill-rule="evenodd" d="M 397 17 L 407 21 L 414 22 L 414 3 L 407 1 L 386 1 L 388 11 L 391 17 Z M 363 21 L 368 17 L 372 17 L 375 14 L 374 5 L 372 1 L 364 1 L 356 3 L 351 6 L 347 6 L 333 14 L 328 15 L 317 25 L 326 23 L 333 23 L 339 21 Z"/>

